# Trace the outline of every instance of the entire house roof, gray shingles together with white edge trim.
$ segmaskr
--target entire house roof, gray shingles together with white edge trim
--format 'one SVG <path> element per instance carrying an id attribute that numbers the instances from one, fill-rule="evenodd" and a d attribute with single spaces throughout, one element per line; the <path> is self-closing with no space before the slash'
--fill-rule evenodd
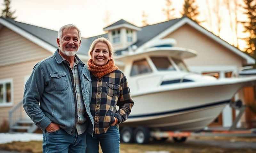
<path id="1" fill-rule="evenodd" d="M 7 21 L 8 23 L 6 23 L 4 21 Z M 9 24 L 9 23 L 11 23 L 11 24 Z M 124 23 L 130 24 L 131 26 L 135 26 L 123 19 L 121 19 L 109 26 L 116 26 L 116 25 L 120 25 L 120 24 L 122 25 Z M 230 45 L 228 42 L 222 40 L 220 37 L 209 32 L 208 30 L 206 30 L 202 26 L 196 24 L 195 22 L 193 22 L 192 20 L 190 20 L 187 17 L 177 18 L 177 19 L 157 23 L 154 25 L 147 25 L 147 26 L 141 27 L 141 30 L 137 31 L 137 41 L 132 45 L 136 45 L 138 47 L 138 49 L 141 49 L 141 48 L 143 48 L 143 46 L 150 43 L 150 41 L 153 41 L 153 40 L 159 39 L 159 38 L 163 38 L 164 35 L 166 35 L 167 33 L 173 32 L 174 30 L 178 29 L 180 26 L 182 26 L 186 23 L 195 27 L 198 31 L 204 33 L 205 35 L 209 36 L 210 38 L 217 41 L 221 45 L 232 50 L 237 55 L 246 59 L 247 64 L 255 63 L 255 60 L 251 56 L 240 51 L 238 48 Z M 4 26 L 7 26 L 7 27 L 8 26 L 12 27 L 12 29 L 14 29 L 14 30 L 16 28 L 17 33 L 19 33 L 20 31 L 23 31 L 23 35 L 24 35 L 24 33 L 25 33 L 25 35 L 29 34 L 29 36 L 27 36 L 26 38 L 30 38 L 32 35 L 33 38 L 30 39 L 32 42 L 35 42 L 35 43 L 39 42 L 37 44 L 41 45 L 41 47 L 44 47 L 51 52 L 54 52 L 58 48 L 57 43 L 56 43 L 56 38 L 58 37 L 57 31 L 42 28 L 42 27 L 35 26 L 35 25 L 29 25 L 26 23 L 17 22 L 12 19 L 8 19 L 8 18 L 0 18 L 0 24 L 3 24 Z M 109 26 L 107 26 L 107 27 L 109 27 Z M 89 38 L 82 38 L 81 47 L 79 49 L 78 54 L 88 55 L 88 50 L 89 50 L 90 45 L 92 44 L 92 41 L 99 37 L 108 38 L 108 34 L 105 33 L 105 34 L 101 34 L 101 35 L 97 35 L 97 36 L 93 36 L 93 37 L 89 37 Z M 37 39 L 37 41 L 34 41 L 35 39 Z M 45 47 L 47 45 L 48 45 L 48 47 Z M 127 48 L 124 48 L 122 50 L 127 50 Z M 121 55 L 122 50 L 117 50 L 115 52 L 115 54 Z"/>

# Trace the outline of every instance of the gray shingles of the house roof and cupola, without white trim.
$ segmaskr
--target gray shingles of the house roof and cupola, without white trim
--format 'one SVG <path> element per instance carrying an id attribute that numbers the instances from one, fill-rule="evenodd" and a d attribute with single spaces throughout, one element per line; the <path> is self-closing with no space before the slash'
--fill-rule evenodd
<path id="1" fill-rule="evenodd" d="M 29 24 L 22 23 L 22 22 L 17 22 L 12 19 L 8 19 L 8 18 L 4 18 L 4 19 L 7 20 L 8 22 L 20 27 L 21 29 L 27 31 L 28 33 L 36 36 L 37 38 L 49 43 L 50 45 L 58 48 L 57 43 L 56 43 L 56 39 L 58 37 L 57 31 L 42 28 L 42 27 L 35 26 L 35 25 L 29 25 Z M 179 22 L 181 19 L 182 18 L 178 18 L 178 19 L 174 19 L 174 20 L 170 20 L 170 21 L 165 21 L 162 23 L 157 23 L 154 25 L 147 25 L 147 26 L 141 27 L 141 30 L 137 31 L 138 40 L 136 43 L 134 43 L 134 45 L 140 47 L 148 40 L 154 38 L 156 35 L 163 32 L 166 28 L 171 27 L 175 23 Z M 122 24 L 122 23 L 130 24 L 129 22 L 121 19 L 112 25 L 118 25 L 118 24 Z M 110 25 L 110 26 L 112 26 L 112 25 Z M 133 26 L 135 26 L 135 25 L 133 25 Z M 93 36 L 93 37 L 89 37 L 89 38 L 82 38 L 81 47 L 79 49 L 79 54 L 87 55 L 87 52 L 90 48 L 90 45 L 92 44 L 92 41 L 99 37 L 108 38 L 108 34 L 105 33 L 105 34 L 101 34 L 101 35 Z M 121 50 L 116 51 L 116 54 L 120 55 Z"/>

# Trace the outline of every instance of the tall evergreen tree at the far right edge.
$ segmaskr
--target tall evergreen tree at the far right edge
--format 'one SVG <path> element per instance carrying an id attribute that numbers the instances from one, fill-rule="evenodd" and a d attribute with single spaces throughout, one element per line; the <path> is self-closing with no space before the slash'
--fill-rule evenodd
<path id="1" fill-rule="evenodd" d="M 247 15 L 248 20 L 242 22 L 244 25 L 244 32 L 250 33 L 244 40 L 247 43 L 246 52 L 256 58 L 255 47 L 256 47 L 256 1 L 255 0 L 244 0 L 244 14 Z"/>

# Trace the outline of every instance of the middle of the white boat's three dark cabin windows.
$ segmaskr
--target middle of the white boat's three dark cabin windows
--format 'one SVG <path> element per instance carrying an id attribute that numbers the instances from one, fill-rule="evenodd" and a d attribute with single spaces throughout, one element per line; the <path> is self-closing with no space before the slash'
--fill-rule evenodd
<path id="1" fill-rule="evenodd" d="M 172 63 L 167 57 L 150 57 L 158 71 L 175 71 Z"/>

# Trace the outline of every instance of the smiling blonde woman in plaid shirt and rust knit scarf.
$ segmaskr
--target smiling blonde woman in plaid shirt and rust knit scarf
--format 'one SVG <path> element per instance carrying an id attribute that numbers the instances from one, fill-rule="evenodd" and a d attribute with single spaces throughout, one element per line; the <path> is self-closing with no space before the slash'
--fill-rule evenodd
<path id="1" fill-rule="evenodd" d="M 119 153 L 118 124 L 127 119 L 134 105 L 126 77 L 116 67 L 112 54 L 111 43 L 103 37 L 94 40 L 89 49 L 94 133 L 86 137 L 88 153 L 99 152 L 99 143 L 103 153 Z"/>

